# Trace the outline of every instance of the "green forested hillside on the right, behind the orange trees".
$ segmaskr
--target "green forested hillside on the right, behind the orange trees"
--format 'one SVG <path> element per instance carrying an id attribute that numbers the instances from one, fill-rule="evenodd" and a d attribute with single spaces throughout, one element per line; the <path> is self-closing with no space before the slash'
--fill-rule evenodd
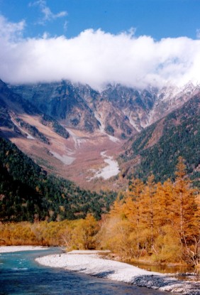
<path id="1" fill-rule="evenodd" d="M 128 167 L 130 178 L 134 175 L 146 180 L 150 173 L 156 181 L 173 178 L 177 159 L 182 156 L 187 161 L 187 173 L 199 186 L 200 96 L 134 136 L 125 149 L 122 167 Z"/>

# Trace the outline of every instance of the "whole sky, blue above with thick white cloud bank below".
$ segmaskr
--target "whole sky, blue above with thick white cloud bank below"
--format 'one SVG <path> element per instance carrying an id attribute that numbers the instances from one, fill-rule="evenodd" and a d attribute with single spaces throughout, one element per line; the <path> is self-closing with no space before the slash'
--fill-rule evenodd
<path id="1" fill-rule="evenodd" d="M 0 79 L 200 83 L 200 0 L 0 0 Z"/>

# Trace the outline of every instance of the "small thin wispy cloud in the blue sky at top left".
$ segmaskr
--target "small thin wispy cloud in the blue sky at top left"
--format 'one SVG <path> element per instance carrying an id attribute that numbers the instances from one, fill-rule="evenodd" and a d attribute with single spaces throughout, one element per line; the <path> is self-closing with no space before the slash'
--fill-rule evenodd
<path id="1" fill-rule="evenodd" d="M 67 11 L 60 11 L 58 14 L 53 14 L 50 8 L 47 6 L 47 2 L 45 0 L 30 2 L 29 6 L 39 6 L 40 11 L 43 14 L 43 18 L 38 21 L 40 24 L 44 24 L 46 21 L 55 20 L 56 18 L 67 16 Z"/>

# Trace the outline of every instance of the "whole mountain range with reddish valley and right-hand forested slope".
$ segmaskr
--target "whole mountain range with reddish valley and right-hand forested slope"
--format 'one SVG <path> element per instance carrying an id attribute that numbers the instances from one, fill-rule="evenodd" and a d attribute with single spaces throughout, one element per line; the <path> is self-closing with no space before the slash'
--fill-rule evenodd
<path id="1" fill-rule="evenodd" d="M 164 181 L 172 178 L 178 156 L 198 185 L 199 102 L 200 87 L 191 82 L 144 90 L 116 84 L 98 91 L 67 80 L 0 81 L 0 130 L 46 171 L 84 188 L 117 190 L 150 173 Z M 119 173 L 100 178 L 116 161 Z"/>

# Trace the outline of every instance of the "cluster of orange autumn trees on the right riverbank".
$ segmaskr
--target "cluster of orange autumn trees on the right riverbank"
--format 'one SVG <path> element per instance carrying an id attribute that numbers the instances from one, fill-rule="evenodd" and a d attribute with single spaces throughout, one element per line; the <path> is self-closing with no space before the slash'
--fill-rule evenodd
<path id="1" fill-rule="evenodd" d="M 124 259 L 199 264 L 197 191 L 186 178 L 180 157 L 174 183 L 135 179 L 101 225 L 101 246 Z M 103 235 L 102 235 L 103 233 Z"/>

